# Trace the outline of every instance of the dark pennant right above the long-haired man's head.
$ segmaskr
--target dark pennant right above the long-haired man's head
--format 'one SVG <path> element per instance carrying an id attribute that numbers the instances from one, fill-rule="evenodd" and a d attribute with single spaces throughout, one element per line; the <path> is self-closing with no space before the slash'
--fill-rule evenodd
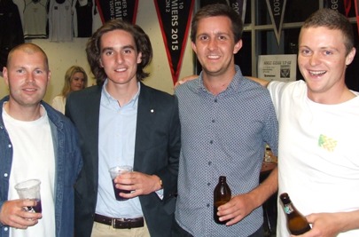
<path id="1" fill-rule="evenodd" d="M 136 23 L 138 0 L 96 0 L 102 23 L 121 19 Z"/>

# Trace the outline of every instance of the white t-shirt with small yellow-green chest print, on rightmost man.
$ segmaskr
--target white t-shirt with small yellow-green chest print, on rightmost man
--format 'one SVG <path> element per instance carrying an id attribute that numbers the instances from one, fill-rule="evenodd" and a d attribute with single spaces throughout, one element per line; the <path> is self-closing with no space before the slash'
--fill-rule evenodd
<path id="1" fill-rule="evenodd" d="M 268 89 L 279 122 L 278 194 L 288 193 L 305 216 L 359 209 L 359 97 L 323 105 L 308 99 L 304 81 Z M 277 236 L 289 236 L 279 204 Z"/>

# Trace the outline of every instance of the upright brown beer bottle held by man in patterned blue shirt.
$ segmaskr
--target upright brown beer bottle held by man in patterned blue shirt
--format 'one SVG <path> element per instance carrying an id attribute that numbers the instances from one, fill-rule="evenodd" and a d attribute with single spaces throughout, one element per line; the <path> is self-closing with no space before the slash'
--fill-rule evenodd
<path id="1" fill-rule="evenodd" d="M 222 204 L 230 201 L 230 186 L 227 185 L 226 177 L 220 176 L 217 186 L 215 186 L 214 192 L 214 205 L 213 205 L 213 217 L 215 218 L 215 223 L 224 225 L 226 221 L 220 221 L 217 215 L 218 207 Z"/>

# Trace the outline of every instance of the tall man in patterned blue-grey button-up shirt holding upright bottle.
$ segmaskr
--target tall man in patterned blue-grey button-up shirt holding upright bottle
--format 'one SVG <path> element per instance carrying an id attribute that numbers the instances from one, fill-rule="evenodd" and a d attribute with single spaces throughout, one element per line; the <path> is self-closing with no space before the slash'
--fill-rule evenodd
<path id="1" fill-rule="evenodd" d="M 263 236 L 261 204 L 277 191 L 277 169 L 259 185 L 264 147 L 277 154 L 277 118 L 269 91 L 241 74 L 234 54 L 243 22 L 226 4 L 207 5 L 191 22 L 192 49 L 203 70 L 176 87 L 182 147 L 173 236 Z M 232 198 L 215 211 L 227 177 Z"/>

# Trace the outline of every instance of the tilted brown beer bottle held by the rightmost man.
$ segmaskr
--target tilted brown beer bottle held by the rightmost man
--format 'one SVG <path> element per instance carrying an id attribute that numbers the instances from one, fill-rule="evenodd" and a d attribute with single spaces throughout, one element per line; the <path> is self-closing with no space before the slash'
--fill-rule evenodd
<path id="1" fill-rule="evenodd" d="M 280 194 L 279 197 L 283 203 L 289 232 L 293 235 L 299 235 L 310 231 L 311 228 L 306 217 L 294 207 L 289 195 L 284 193 Z"/>

